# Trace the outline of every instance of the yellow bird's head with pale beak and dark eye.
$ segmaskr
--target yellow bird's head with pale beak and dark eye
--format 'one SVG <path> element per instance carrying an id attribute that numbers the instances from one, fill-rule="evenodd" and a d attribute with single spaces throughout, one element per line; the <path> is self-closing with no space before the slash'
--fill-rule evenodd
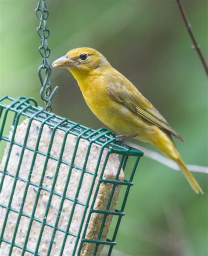
<path id="1" fill-rule="evenodd" d="M 89 73 L 109 64 L 107 59 L 93 48 L 75 48 L 52 63 L 52 67 L 67 68 L 73 73 Z"/>

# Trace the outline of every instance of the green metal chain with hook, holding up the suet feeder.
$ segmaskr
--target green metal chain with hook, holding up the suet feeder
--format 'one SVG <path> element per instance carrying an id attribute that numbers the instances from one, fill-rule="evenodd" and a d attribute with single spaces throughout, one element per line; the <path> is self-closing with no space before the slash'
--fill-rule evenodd
<path id="1" fill-rule="evenodd" d="M 35 10 L 36 16 L 39 19 L 39 26 L 37 27 L 37 33 L 41 38 L 41 45 L 39 46 L 39 52 L 43 57 L 43 64 L 38 68 L 38 76 L 41 84 L 40 97 L 45 102 L 45 109 L 49 112 L 52 111 L 51 100 L 54 97 L 58 86 L 52 91 L 50 83 L 51 68 L 49 63 L 50 49 L 48 47 L 47 38 L 49 37 L 50 31 L 47 28 L 47 18 L 49 12 L 46 7 L 45 0 L 38 0 L 38 5 Z M 45 72 L 44 72 L 45 71 Z"/>

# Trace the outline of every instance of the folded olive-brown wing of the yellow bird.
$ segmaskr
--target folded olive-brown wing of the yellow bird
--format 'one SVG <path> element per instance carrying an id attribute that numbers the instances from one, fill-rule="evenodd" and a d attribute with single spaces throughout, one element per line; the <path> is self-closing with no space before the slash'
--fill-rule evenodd
<path id="1" fill-rule="evenodd" d="M 127 78 L 120 73 L 117 76 L 108 75 L 106 83 L 108 92 L 114 100 L 117 100 L 129 110 L 143 117 L 143 119 L 146 119 L 184 142 L 183 138 L 169 126 L 169 123 L 159 111 L 154 108 L 149 100 Z"/>

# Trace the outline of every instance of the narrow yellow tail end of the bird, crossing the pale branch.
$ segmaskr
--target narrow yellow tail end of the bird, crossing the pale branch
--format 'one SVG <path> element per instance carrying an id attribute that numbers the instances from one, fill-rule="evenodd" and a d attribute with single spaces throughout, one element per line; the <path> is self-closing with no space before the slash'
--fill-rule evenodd
<path id="1" fill-rule="evenodd" d="M 179 156 L 178 160 L 175 160 L 175 161 L 176 161 L 177 165 L 179 166 L 181 172 L 183 173 L 184 177 L 189 182 L 192 189 L 194 189 L 194 191 L 197 194 L 200 192 L 203 195 L 204 194 L 203 190 L 199 186 L 199 184 L 196 181 L 196 179 L 194 178 L 193 174 L 188 170 L 188 168 L 186 167 L 186 164 L 183 162 L 181 157 Z"/>

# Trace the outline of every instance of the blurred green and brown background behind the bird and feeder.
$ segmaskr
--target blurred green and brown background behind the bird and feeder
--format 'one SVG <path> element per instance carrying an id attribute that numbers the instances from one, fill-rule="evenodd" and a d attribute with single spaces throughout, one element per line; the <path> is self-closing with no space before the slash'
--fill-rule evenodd
<path id="1" fill-rule="evenodd" d="M 208 59 L 208 2 L 183 4 Z M 47 7 L 50 62 L 72 48 L 96 48 L 186 140 L 175 140 L 183 160 L 208 165 L 207 77 L 190 48 L 175 0 L 48 0 Z M 35 8 L 36 0 L 0 0 L 0 94 L 32 96 L 43 105 Z M 51 81 L 60 86 L 53 100 L 56 114 L 94 129 L 104 126 L 67 70 L 54 69 Z M 179 172 L 144 156 L 113 255 L 208 255 L 208 179 L 206 174 L 194 176 L 204 196 L 195 194 Z"/>

